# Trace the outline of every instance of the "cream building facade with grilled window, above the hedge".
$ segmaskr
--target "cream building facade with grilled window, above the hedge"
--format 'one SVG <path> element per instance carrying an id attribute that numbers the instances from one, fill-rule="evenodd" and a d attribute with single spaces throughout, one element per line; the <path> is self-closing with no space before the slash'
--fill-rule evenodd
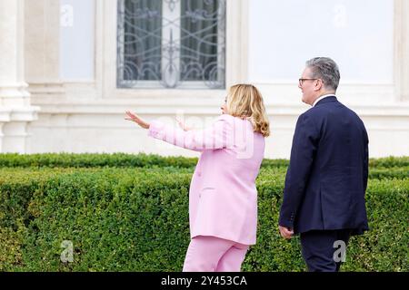
<path id="1" fill-rule="evenodd" d="M 267 158 L 289 158 L 304 62 L 340 66 L 338 99 L 370 156 L 409 155 L 405 0 L 0 0 L 0 152 L 197 156 L 125 121 L 205 127 L 229 86 L 254 83 Z"/>

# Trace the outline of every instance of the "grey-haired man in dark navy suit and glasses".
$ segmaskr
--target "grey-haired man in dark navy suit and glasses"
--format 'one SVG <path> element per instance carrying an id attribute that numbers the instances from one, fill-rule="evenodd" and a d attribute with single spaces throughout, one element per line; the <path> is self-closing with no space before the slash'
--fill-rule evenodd
<path id="1" fill-rule="evenodd" d="M 296 123 L 279 230 L 284 238 L 300 234 L 309 271 L 338 271 L 349 237 L 368 230 L 368 136 L 337 101 L 339 79 L 336 63 L 317 57 L 306 62 L 298 85 L 312 108 Z"/>

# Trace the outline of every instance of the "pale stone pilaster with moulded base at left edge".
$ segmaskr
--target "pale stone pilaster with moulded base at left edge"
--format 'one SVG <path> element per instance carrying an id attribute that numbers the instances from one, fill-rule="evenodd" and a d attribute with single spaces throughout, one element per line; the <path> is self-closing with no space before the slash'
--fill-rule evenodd
<path id="1" fill-rule="evenodd" d="M 24 78 L 24 0 L 0 1 L 0 152 L 27 152 L 30 104 Z"/>

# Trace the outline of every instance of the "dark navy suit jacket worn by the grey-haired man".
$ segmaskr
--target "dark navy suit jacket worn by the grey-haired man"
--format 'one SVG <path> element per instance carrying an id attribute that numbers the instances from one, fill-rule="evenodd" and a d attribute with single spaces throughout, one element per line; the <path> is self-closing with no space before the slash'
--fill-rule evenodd
<path id="1" fill-rule="evenodd" d="M 279 225 L 309 230 L 368 229 L 364 194 L 368 135 L 354 111 L 326 97 L 295 127 Z"/>

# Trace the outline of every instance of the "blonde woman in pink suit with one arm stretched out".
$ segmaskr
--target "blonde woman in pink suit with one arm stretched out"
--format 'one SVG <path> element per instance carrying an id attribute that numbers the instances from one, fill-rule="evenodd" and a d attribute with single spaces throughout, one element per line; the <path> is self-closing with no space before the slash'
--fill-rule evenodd
<path id="1" fill-rule="evenodd" d="M 255 179 L 270 133 L 263 98 L 253 85 L 237 84 L 221 109 L 213 125 L 200 131 L 149 124 L 126 111 L 125 119 L 148 129 L 149 136 L 202 151 L 189 190 L 191 242 L 184 272 L 239 272 L 255 244 Z"/>

